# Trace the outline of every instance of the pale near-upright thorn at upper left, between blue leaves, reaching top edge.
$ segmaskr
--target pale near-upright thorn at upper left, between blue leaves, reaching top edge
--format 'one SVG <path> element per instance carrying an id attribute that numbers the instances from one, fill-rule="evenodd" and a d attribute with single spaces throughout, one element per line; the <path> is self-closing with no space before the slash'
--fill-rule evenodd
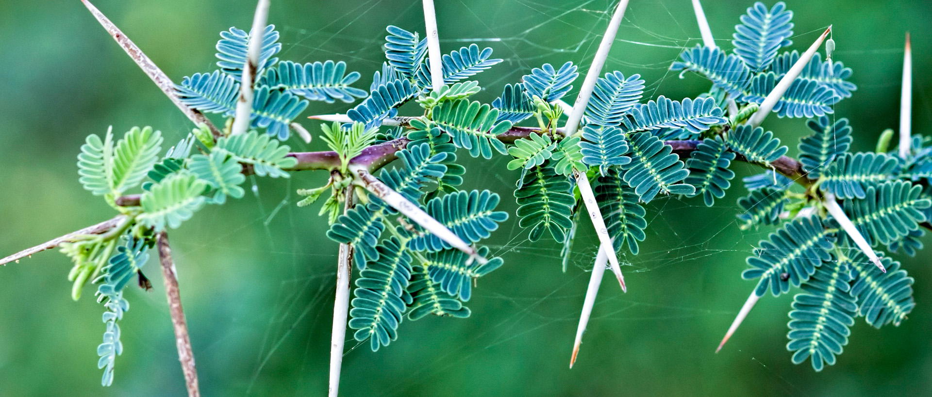
<path id="1" fill-rule="evenodd" d="M 249 46 L 246 48 L 246 62 L 242 65 L 240 76 L 240 99 L 236 104 L 236 116 L 233 119 L 233 127 L 230 128 L 230 135 L 245 134 L 252 122 L 253 81 L 262 55 L 262 39 L 268 21 L 268 2 L 269 0 L 259 0 L 255 6 L 253 29 L 249 32 Z"/>

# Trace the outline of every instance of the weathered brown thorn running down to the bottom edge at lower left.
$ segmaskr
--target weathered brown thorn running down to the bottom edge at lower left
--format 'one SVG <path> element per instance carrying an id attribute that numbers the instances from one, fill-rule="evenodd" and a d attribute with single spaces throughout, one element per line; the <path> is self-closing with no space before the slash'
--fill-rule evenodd
<path id="1" fill-rule="evenodd" d="M 159 232 L 156 235 L 156 245 L 158 245 L 158 260 L 162 264 L 162 275 L 165 276 L 165 295 L 169 299 L 171 325 L 174 327 L 178 361 L 181 362 L 181 369 L 185 373 L 187 395 L 188 397 L 198 397 L 200 396 L 198 371 L 194 366 L 194 351 L 191 350 L 191 338 L 187 335 L 185 310 L 181 307 L 181 292 L 178 290 L 178 271 L 175 270 L 174 261 L 171 260 L 168 233 Z"/>

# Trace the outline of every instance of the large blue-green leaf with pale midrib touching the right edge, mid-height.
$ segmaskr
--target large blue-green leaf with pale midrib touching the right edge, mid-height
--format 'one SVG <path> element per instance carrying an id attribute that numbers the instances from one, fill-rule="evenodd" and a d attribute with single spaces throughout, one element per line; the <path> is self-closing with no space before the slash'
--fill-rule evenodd
<path id="1" fill-rule="evenodd" d="M 884 182 L 868 187 L 863 199 L 845 200 L 844 213 L 870 245 L 887 245 L 919 229 L 919 223 L 925 222 L 923 210 L 932 202 L 922 191 L 922 186 L 905 180 Z"/>

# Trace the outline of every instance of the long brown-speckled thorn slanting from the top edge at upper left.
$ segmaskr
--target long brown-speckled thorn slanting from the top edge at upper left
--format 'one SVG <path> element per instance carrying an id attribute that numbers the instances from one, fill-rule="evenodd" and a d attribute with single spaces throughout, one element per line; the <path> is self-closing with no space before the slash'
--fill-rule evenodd
<path id="1" fill-rule="evenodd" d="M 88 7 L 90 14 L 101 23 L 103 29 L 105 29 L 107 33 L 110 33 L 110 35 L 113 36 L 114 40 L 117 41 L 117 44 L 122 47 L 124 51 L 126 51 L 127 55 L 129 55 L 134 62 L 136 62 L 136 65 L 139 65 L 143 72 L 148 75 L 154 83 L 156 83 L 156 86 L 158 86 L 159 89 L 162 90 L 162 93 L 168 96 L 169 99 L 171 99 L 171 102 L 174 103 L 178 109 L 181 109 L 181 111 L 185 113 L 185 116 L 187 116 L 191 122 L 193 122 L 195 125 L 206 125 L 211 130 L 213 138 L 219 138 L 222 136 L 220 130 L 217 129 L 217 126 L 214 126 L 213 123 L 211 123 L 211 120 L 209 120 L 203 113 L 191 109 L 181 102 L 181 99 L 178 98 L 178 94 L 175 93 L 174 84 L 171 83 L 169 76 L 162 72 L 161 69 L 158 69 L 158 66 L 156 66 L 156 64 L 150 60 L 149 57 L 145 56 L 143 50 L 139 49 L 139 47 L 136 46 L 132 40 L 127 37 L 126 34 L 120 31 L 114 22 L 107 19 L 101 10 L 90 4 L 88 0 L 81 0 L 81 2 L 84 3 L 85 7 Z"/>

